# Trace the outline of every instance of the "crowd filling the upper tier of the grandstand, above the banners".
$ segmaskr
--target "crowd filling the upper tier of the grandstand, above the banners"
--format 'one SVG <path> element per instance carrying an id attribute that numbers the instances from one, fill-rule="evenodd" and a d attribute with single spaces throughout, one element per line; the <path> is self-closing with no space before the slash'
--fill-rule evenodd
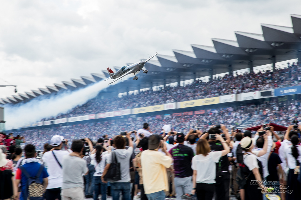
<path id="1" fill-rule="evenodd" d="M 185 86 L 167 86 L 160 90 L 140 91 L 135 95 L 139 101 L 132 101 L 132 95 L 122 97 L 108 97 L 100 99 L 95 97 L 81 106 L 76 106 L 70 112 L 54 116 L 46 120 L 56 118 L 74 117 L 79 115 L 95 114 L 104 111 L 130 109 L 136 106 L 148 106 L 151 104 L 164 104 L 184 100 L 202 99 L 226 94 L 238 94 L 243 92 L 259 91 L 278 87 L 288 87 L 301 84 L 301 66 L 294 63 L 290 67 L 259 71 L 258 73 L 225 75 L 210 81 L 196 80 Z"/>

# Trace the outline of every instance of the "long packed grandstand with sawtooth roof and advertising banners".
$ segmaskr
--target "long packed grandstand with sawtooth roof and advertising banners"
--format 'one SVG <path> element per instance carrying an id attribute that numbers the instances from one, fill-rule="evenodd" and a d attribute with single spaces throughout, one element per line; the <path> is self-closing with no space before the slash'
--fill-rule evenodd
<path id="1" fill-rule="evenodd" d="M 103 134 L 116 135 L 125 127 L 137 130 L 144 122 L 150 123 L 154 133 L 160 133 L 165 124 L 183 132 L 204 131 L 213 124 L 225 124 L 228 129 L 268 122 L 287 126 L 301 119 L 301 16 L 291 15 L 291 19 L 292 28 L 262 24 L 263 34 L 237 31 L 237 41 L 212 39 L 214 47 L 192 45 L 193 52 L 157 55 L 158 61 L 149 61 L 145 65 L 149 73 L 139 74 L 138 81 L 109 86 L 70 112 L 8 132 L 25 135 L 26 142 L 42 147 L 55 134 L 95 140 Z M 298 62 L 276 66 L 290 59 Z M 265 64 L 272 67 L 259 68 Z M 18 106 L 109 77 L 106 71 L 91 75 L 7 97 L 0 104 Z"/>

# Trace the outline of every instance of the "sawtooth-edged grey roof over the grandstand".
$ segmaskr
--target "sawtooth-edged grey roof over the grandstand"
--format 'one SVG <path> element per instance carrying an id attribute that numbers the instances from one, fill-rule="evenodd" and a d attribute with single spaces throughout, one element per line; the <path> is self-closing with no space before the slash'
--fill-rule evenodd
<path id="1" fill-rule="evenodd" d="M 192 51 L 174 49 L 174 55 L 158 54 L 158 60 L 152 59 L 145 64 L 145 69 L 149 70 L 147 74 L 138 73 L 138 80 L 129 79 L 111 85 L 104 92 L 122 93 L 240 69 L 252 70 L 252 67 L 265 64 L 275 66 L 275 62 L 295 58 L 301 61 L 301 15 L 292 14 L 291 20 L 292 27 L 261 24 L 262 34 L 235 31 L 237 40 L 212 38 L 214 46 L 192 44 Z M 84 88 L 107 77 L 107 71 L 102 70 L 100 73 L 91 73 L 91 76 L 81 76 L 80 79 L 2 98 L 0 105 L 27 102 L 39 96 Z"/>

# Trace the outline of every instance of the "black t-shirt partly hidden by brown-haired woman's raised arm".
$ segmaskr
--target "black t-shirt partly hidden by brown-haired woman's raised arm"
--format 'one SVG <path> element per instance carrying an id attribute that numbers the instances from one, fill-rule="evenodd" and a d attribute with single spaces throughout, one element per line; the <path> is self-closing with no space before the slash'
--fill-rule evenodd
<path id="1" fill-rule="evenodd" d="M 211 151 L 223 151 L 224 147 L 221 142 L 208 142 L 211 148 Z M 216 175 L 220 174 L 221 172 L 228 172 L 229 171 L 229 161 L 228 156 L 222 156 L 219 159 L 219 162 L 216 163 Z"/>

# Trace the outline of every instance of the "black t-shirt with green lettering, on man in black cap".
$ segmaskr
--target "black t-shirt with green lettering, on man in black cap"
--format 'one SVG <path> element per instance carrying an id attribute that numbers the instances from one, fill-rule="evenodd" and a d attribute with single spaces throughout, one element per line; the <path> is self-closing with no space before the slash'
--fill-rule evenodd
<path id="1" fill-rule="evenodd" d="M 191 160 L 194 156 L 193 150 L 185 145 L 177 145 L 169 150 L 172 155 L 175 176 L 179 178 L 185 178 L 192 176 Z"/>

